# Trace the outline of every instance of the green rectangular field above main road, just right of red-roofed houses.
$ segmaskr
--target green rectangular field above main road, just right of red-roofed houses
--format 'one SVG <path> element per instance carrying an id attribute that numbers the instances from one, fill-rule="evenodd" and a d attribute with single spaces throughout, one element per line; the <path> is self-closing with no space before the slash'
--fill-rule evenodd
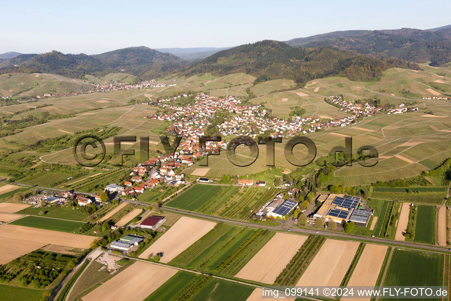
<path id="1" fill-rule="evenodd" d="M 221 186 L 218 185 L 196 184 L 171 200 L 167 205 L 178 209 L 196 211 L 196 209 L 212 199 L 220 190 Z"/>

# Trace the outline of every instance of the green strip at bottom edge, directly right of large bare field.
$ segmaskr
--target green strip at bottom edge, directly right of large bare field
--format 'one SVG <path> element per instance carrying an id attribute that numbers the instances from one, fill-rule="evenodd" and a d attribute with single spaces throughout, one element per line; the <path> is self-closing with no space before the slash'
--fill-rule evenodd
<path id="1" fill-rule="evenodd" d="M 193 281 L 196 277 L 198 277 L 197 274 L 179 271 L 143 301 L 172 300 L 172 298 L 177 296 L 177 294 L 183 290 L 187 283 Z"/>

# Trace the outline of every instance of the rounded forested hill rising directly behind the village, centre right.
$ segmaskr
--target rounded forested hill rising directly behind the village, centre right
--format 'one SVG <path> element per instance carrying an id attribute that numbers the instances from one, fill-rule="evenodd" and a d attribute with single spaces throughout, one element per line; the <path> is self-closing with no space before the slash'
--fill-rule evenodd
<path id="1" fill-rule="evenodd" d="M 219 51 L 180 72 L 194 75 L 211 72 L 225 75 L 246 72 L 257 77 L 256 82 L 270 79 L 293 79 L 306 83 L 331 75 L 343 75 L 351 80 L 374 80 L 382 71 L 394 66 L 419 69 L 403 60 L 391 63 L 351 51 L 331 48 L 298 48 L 272 40 L 245 44 Z"/>

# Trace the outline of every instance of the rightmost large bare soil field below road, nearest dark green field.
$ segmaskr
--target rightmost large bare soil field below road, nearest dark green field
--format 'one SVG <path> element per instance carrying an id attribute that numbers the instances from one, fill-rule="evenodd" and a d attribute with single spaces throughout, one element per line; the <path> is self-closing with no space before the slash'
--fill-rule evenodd
<path id="1" fill-rule="evenodd" d="M 386 245 L 365 245 L 364 251 L 356 264 L 348 286 L 374 286 L 382 268 L 385 255 L 387 254 Z M 364 301 L 371 298 L 352 298 L 345 300 Z"/>

